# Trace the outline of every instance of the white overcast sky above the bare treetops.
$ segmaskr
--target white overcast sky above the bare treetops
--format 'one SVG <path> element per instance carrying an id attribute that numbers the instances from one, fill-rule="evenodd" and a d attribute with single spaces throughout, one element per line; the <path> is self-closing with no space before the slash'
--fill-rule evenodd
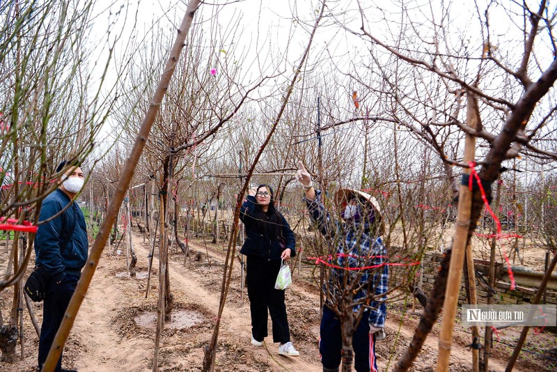
<path id="1" fill-rule="evenodd" d="M 223 41 L 221 48 L 230 57 L 240 59 L 240 55 L 246 57 L 246 61 L 256 60 L 258 55 L 274 56 L 274 63 L 263 63 L 256 66 L 258 69 L 248 70 L 242 79 L 244 84 L 249 85 L 253 79 L 257 79 L 265 72 L 285 72 L 284 79 L 288 79 L 287 72 L 292 71 L 292 66 L 297 64 L 303 49 L 308 42 L 308 32 L 311 31 L 320 1 L 295 1 L 295 0 L 242 0 L 242 1 L 214 1 L 220 3 L 215 6 L 209 3 L 203 4 L 196 13 L 194 24 L 205 31 L 211 30 L 212 21 L 218 22 L 223 29 L 229 24 L 239 24 L 241 32 L 235 35 L 232 40 Z M 403 15 L 393 6 L 389 0 L 382 1 L 361 1 L 364 6 L 366 19 L 366 29 L 375 36 L 390 42 L 389 38 L 396 38 L 398 35 L 399 24 L 403 20 Z M 396 3 L 400 3 L 397 1 Z M 407 1 L 411 13 L 411 20 L 414 26 L 423 24 L 423 28 L 418 29 L 423 36 L 431 32 L 430 22 L 434 18 L 436 22 L 441 22 L 441 4 L 448 4 L 452 7 L 452 13 L 444 19 L 444 24 L 450 24 L 453 33 L 448 34 L 448 42 L 458 47 L 463 43 L 469 48 L 472 55 L 478 55 L 478 50 L 482 49 L 483 36 L 480 33 L 480 23 L 478 16 L 483 16 L 480 12 L 476 13 L 473 8 L 473 1 Z M 480 8 L 486 1 L 477 1 Z M 361 26 L 361 16 L 358 11 L 358 3 L 355 0 L 329 0 L 327 1 L 328 11 L 333 12 L 336 17 L 327 17 L 322 21 L 322 28 L 318 31 L 313 42 L 313 52 L 310 63 L 331 54 L 335 63 L 344 72 L 352 72 L 350 69 L 357 69 L 360 58 L 365 58 L 368 54 L 370 45 L 361 38 L 353 36 L 349 31 L 343 29 L 340 24 L 347 29 L 359 31 Z M 131 55 L 136 49 L 129 49 L 130 40 L 136 45 L 145 43 L 160 43 L 167 45 L 170 49 L 175 38 L 175 30 L 181 23 L 185 14 L 185 3 L 157 0 L 134 0 L 119 1 L 115 0 L 113 5 L 103 8 L 102 2 L 97 3 L 93 25 L 93 35 L 91 42 L 97 44 L 97 57 L 103 61 L 103 54 L 106 52 L 107 45 L 114 42 L 120 36 L 114 47 L 116 59 L 113 63 L 120 63 L 123 54 Z M 517 27 L 521 24 L 508 22 L 505 15 L 508 9 L 505 7 L 491 6 L 489 8 L 491 40 L 494 45 L 504 45 L 512 33 L 516 33 Z M 116 17 L 117 15 L 117 17 Z M 517 19 L 520 19 L 519 17 Z M 115 22 L 116 23 L 113 23 Z M 152 34 L 152 26 L 159 25 L 166 30 L 166 38 L 155 39 Z M 111 33 L 107 42 L 106 30 L 110 28 Z M 458 29 L 458 32 L 455 32 Z M 416 30 L 413 30 L 416 31 Z M 216 36 L 218 37 L 218 36 Z M 394 44 L 395 42 L 393 42 Z M 325 53 L 324 48 L 328 48 Z M 102 50 L 103 52 L 99 52 Z M 551 58 L 551 54 L 548 54 Z M 517 53 L 519 57 L 519 53 Z M 133 58 L 133 57 L 132 57 Z M 475 63 L 471 61 L 471 63 Z M 103 65 L 104 63 L 100 63 Z M 207 74 L 211 68 L 216 66 L 207 65 Z M 161 65 L 162 71 L 163 65 Z M 263 69 L 262 71 L 260 69 Z M 268 70 L 265 70 L 268 69 Z M 473 69 L 471 69 L 473 70 Z M 252 74 L 253 73 L 253 74 Z M 108 81 L 116 79 L 116 68 L 109 70 Z M 346 100 L 349 100 L 348 94 Z"/>

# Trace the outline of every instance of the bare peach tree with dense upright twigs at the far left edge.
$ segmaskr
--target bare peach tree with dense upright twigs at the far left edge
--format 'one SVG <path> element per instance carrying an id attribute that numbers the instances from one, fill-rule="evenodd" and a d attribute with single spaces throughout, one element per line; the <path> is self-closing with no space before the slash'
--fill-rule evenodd
<path id="1" fill-rule="evenodd" d="M 93 6 L 94 2 L 75 7 L 73 1 L 0 5 L 1 222 L 44 223 L 38 220 L 42 200 L 58 187 L 63 172 L 91 153 L 111 109 L 110 95 L 100 95 L 110 56 L 100 59 L 107 62 L 104 70 L 88 64 Z M 63 159 L 70 162 L 56 173 Z M 16 325 L 22 323 L 20 280 L 33 251 L 34 233 L 4 236 L 11 237 L 10 260 L 2 268 L 0 290 L 13 286 L 14 296 L 9 323 L 2 325 L 6 342 L 1 343 L 6 346 L 3 359 L 10 360 L 15 355 Z M 22 339 L 22 332 L 19 336 Z"/>

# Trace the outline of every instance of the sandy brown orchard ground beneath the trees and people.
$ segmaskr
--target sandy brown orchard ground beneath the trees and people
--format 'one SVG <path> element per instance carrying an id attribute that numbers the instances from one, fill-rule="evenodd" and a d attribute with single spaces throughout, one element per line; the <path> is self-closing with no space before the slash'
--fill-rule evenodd
<path id="1" fill-rule="evenodd" d="M 151 371 L 155 346 L 154 314 L 157 308 L 158 261 L 153 263 L 150 294 L 146 298 L 148 245 L 141 235 L 134 234 L 134 247 L 138 263 L 138 277 L 127 275 L 125 254 L 103 254 L 93 283 L 79 311 L 70 338 L 65 347 L 64 368 L 87 371 Z M 186 261 L 183 254 L 170 255 L 171 288 L 175 300 L 173 320 L 162 333 L 159 353 L 161 371 L 201 371 L 203 350 L 208 345 L 217 319 L 220 287 L 225 254 L 223 247 L 212 245 L 205 249 L 203 242 L 191 242 L 191 249 L 201 252 L 200 261 Z M 207 256 L 208 253 L 208 256 Z M 6 249 L 1 247 L 2 266 L 6 263 Z M 240 265 L 235 258 L 233 282 L 221 318 L 217 371 L 322 371 L 319 352 L 319 291 L 311 279 L 311 268 L 294 273 L 294 285 L 286 292 L 286 302 L 292 341 L 301 353 L 289 358 L 278 355 L 278 344 L 267 337 L 261 348 L 249 342 L 251 334 L 249 302 L 240 292 Z M 210 263 L 209 263 L 210 262 Z M 0 294 L 2 313 L 9 315 L 11 292 Z M 33 304 L 40 322 L 42 304 Z M 377 343 L 380 371 L 402 355 L 419 320 L 421 308 L 412 313 L 403 302 L 389 304 L 386 341 Z M 460 322 L 457 322 L 457 324 Z M 0 371 L 34 371 L 38 337 L 29 315 L 24 316 L 24 358 L 13 364 L 0 362 Z M 425 346 L 411 371 L 433 371 L 437 359 L 437 334 L 440 322 L 427 338 Z M 270 333 L 269 320 L 269 333 Z M 501 332 L 490 359 L 492 371 L 504 371 L 510 346 L 518 339 L 519 330 Z M 455 329 L 455 344 L 451 355 L 450 371 L 471 371 L 469 332 L 460 325 Z M 531 334 L 525 348 L 544 354 L 522 352 L 515 371 L 557 371 L 557 338 L 543 332 Z M 389 367 L 391 369 L 391 367 Z"/>

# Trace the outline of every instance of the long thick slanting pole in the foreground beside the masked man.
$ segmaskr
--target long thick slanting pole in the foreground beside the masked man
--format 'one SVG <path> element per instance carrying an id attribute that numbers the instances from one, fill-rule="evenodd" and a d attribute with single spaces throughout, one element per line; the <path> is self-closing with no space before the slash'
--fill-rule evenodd
<path id="1" fill-rule="evenodd" d="M 168 84 L 170 83 L 176 63 L 178 63 L 178 59 L 180 58 L 180 53 L 185 46 L 185 40 L 189 32 L 189 27 L 191 26 L 191 22 L 194 20 L 194 15 L 196 13 L 196 10 L 200 6 L 200 3 L 201 0 L 190 0 L 187 5 L 186 13 L 182 20 L 182 24 L 180 24 L 178 36 L 176 36 L 176 40 L 172 47 L 170 57 L 166 62 L 166 67 L 164 68 L 164 72 L 162 74 L 160 82 L 157 85 L 155 94 L 150 101 L 146 116 L 143 119 L 143 123 L 141 124 L 139 133 L 137 134 L 134 147 L 132 148 L 132 153 L 130 154 L 127 163 L 124 166 L 124 171 L 120 176 L 120 179 L 118 180 L 118 184 L 116 185 L 116 192 L 114 192 L 114 196 L 112 198 L 112 203 L 109 206 L 109 210 L 107 211 L 107 216 L 100 226 L 97 238 L 93 243 L 91 254 L 89 255 L 85 269 L 81 274 L 81 279 L 77 283 L 77 288 L 75 289 L 74 295 L 72 296 L 72 300 L 70 301 L 68 310 L 64 315 L 64 320 L 62 321 L 60 328 L 58 328 L 58 332 L 56 333 L 56 337 L 54 339 L 54 342 L 52 343 L 52 348 L 50 348 L 47 360 L 42 367 L 43 372 L 54 371 L 54 369 L 56 368 L 56 363 L 58 362 L 58 359 L 60 359 L 65 341 L 68 339 L 70 330 L 72 330 L 75 316 L 77 315 L 79 307 L 81 307 L 81 303 L 85 298 L 87 289 L 89 287 L 89 284 L 91 283 L 91 279 L 93 279 L 93 274 L 95 274 L 95 269 L 97 268 L 97 265 L 99 263 L 104 245 L 107 244 L 107 239 L 110 234 L 110 228 L 116 220 L 116 215 L 118 215 L 118 210 L 120 209 L 122 201 L 124 200 L 125 192 L 127 191 L 127 188 L 130 187 L 130 182 L 132 180 L 132 176 L 134 175 L 136 166 L 139 162 L 139 157 L 141 157 L 141 153 L 143 153 L 143 148 L 145 147 L 145 144 L 149 137 L 152 123 L 155 121 L 155 117 L 159 112 L 162 98 L 166 93 L 166 89 L 168 88 Z"/>

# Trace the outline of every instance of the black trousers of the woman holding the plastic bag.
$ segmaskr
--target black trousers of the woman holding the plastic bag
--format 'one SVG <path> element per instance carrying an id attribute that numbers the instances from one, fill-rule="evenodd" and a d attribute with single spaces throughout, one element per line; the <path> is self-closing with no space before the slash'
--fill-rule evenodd
<path id="1" fill-rule="evenodd" d="M 257 341 L 263 341 L 268 335 L 269 313 L 273 324 L 273 342 L 287 343 L 290 341 L 284 290 L 274 288 L 280 268 L 281 260 L 269 261 L 267 258 L 247 257 L 246 284 L 251 312 L 251 334 Z"/>

